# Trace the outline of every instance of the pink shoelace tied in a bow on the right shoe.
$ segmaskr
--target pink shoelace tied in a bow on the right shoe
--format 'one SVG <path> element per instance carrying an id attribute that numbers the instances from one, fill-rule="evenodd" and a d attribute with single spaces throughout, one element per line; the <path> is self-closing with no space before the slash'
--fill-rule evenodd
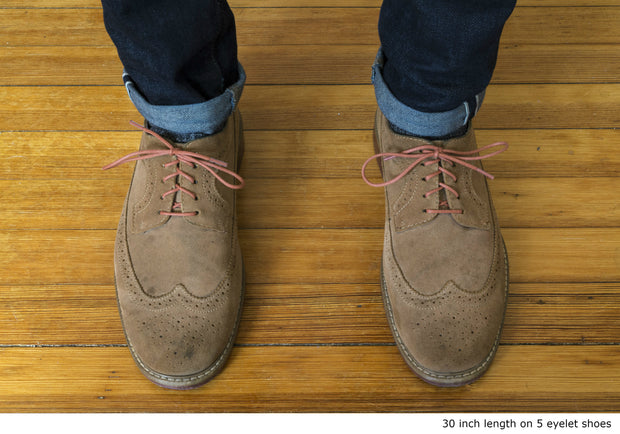
<path id="1" fill-rule="evenodd" d="M 501 147 L 501 149 L 497 149 L 491 152 L 490 154 L 486 154 L 486 155 L 476 155 L 476 154 L 479 154 L 480 152 L 484 152 L 489 149 L 493 149 L 497 147 Z M 422 145 L 422 146 L 417 146 L 415 148 L 411 148 L 411 149 L 408 149 L 402 152 L 383 152 L 380 154 L 373 155 L 368 160 L 366 160 L 366 162 L 362 166 L 362 178 L 364 179 L 366 184 L 370 185 L 371 187 L 385 187 L 386 185 L 391 185 L 391 184 L 394 184 L 395 182 L 398 182 L 400 179 L 406 176 L 419 164 L 422 164 L 424 166 L 430 166 L 431 164 L 436 164 L 436 163 L 439 163 L 440 161 L 446 161 L 449 163 L 450 167 L 454 167 L 456 164 L 460 164 L 461 166 L 467 167 L 468 169 L 475 170 L 476 172 L 486 176 L 489 179 L 494 179 L 493 175 L 474 166 L 473 164 L 468 163 L 468 161 L 484 160 L 486 158 L 493 157 L 497 154 L 501 154 L 506 149 L 508 149 L 508 143 L 497 142 L 497 143 L 493 143 L 491 145 L 487 145 L 483 148 L 476 149 L 473 151 L 452 151 L 450 149 L 444 149 L 444 148 L 441 148 L 435 145 Z M 378 158 L 383 158 L 384 161 L 391 160 L 392 158 L 408 158 L 408 159 L 412 159 L 413 162 L 394 178 L 388 181 L 379 183 L 379 184 L 375 184 L 366 177 L 366 167 L 372 160 L 375 160 Z M 456 182 L 456 175 L 450 172 L 448 169 L 445 169 L 441 166 L 439 166 L 439 170 L 425 176 L 423 179 L 425 181 L 428 181 L 434 178 L 435 176 L 439 176 L 442 173 L 444 174 L 444 176 L 448 176 L 452 178 L 453 181 Z M 444 182 L 439 182 L 439 187 L 434 188 L 424 193 L 424 197 L 429 197 L 431 194 L 439 193 L 442 190 L 446 192 L 450 192 L 451 194 L 456 196 L 457 199 L 459 197 L 458 191 L 456 191 L 454 188 L 450 187 Z M 444 200 L 439 203 L 439 209 L 425 209 L 424 212 L 431 213 L 431 214 L 462 214 L 463 210 L 462 209 L 450 209 L 448 205 L 448 201 Z"/>

